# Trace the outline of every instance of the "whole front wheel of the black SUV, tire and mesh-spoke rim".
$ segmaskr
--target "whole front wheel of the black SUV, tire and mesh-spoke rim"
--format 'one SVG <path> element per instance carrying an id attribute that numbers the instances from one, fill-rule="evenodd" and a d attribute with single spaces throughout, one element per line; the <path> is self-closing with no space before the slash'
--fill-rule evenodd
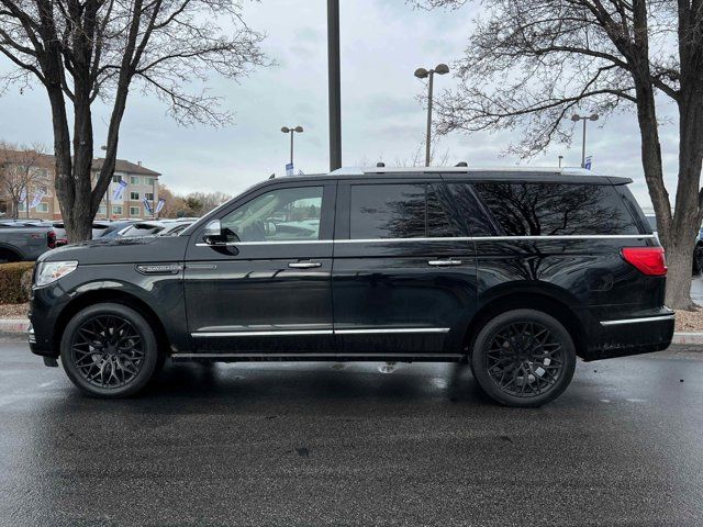
<path id="1" fill-rule="evenodd" d="M 137 393 L 164 363 L 148 322 L 133 309 L 112 303 L 78 312 L 66 326 L 60 355 L 71 382 L 103 399 Z"/>

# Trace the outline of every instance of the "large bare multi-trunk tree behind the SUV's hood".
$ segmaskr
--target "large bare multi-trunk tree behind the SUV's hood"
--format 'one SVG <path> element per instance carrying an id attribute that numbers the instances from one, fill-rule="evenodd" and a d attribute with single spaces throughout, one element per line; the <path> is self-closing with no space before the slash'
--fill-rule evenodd
<path id="1" fill-rule="evenodd" d="M 266 63 L 263 35 L 242 19 L 243 1 L 0 0 L 0 54 L 16 67 L 0 81 L 38 81 L 46 90 L 56 192 L 71 242 L 90 238 L 131 89 L 156 94 L 183 124 L 231 119 L 219 98 L 186 87 L 204 85 L 213 72 L 238 79 Z M 98 99 L 111 102 L 112 112 L 105 160 L 92 186 L 91 109 Z"/>

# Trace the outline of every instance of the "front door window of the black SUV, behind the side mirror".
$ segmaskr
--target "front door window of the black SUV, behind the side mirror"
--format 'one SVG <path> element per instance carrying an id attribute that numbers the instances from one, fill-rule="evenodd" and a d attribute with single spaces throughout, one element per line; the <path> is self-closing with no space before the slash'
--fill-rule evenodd
<path id="1" fill-rule="evenodd" d="M 320 239 L 323 187 L 277 189 L 221 220 L 230 242 Z"/>

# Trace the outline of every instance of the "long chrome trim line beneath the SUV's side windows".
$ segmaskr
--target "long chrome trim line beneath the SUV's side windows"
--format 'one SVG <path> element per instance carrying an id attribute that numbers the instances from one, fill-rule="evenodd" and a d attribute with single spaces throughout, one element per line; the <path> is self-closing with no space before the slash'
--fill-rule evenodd
<path id="1" fill-rule="evenodd" d="M 656 239 L 655 234 L 565 234 L 551 236 L 446 236 L 437 238 L 365 238 L 365 239 L 281 239 L 270 242 L 227 242 L 210 245 L 197 243 L 196 247 L 247 246 L 247 245 L 292 245 L 292 244 L 383 244 L 409 242 L 511 242 L 537 239 Z"/>

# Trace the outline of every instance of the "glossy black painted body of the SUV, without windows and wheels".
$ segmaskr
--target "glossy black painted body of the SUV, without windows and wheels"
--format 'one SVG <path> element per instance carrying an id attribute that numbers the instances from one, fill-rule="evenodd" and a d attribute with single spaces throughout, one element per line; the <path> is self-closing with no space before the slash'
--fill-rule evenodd
<path id="1" fill-rule="evenodd" d="M 672 318 L 601 324 L 671 314 L 663 306 L 665 278 L 645 276 L 621 256 L 625 246 L 658 245 L 626 189 L 628 180 L 569 176 L 568 182 L 615 186 L 637 235 L 559 239 L 502 236 L 488 214 L 479 217 L 483 205 L 472 187 L 480 181 L 563 182 L 565 177 L 487 171 L 275 179 L 180 236 L 98 239 L 53 250 L 40 261 L 78 260 L 79 267 L 34 288 L 32 350 L 57 357 L 67 321 L 94 302 L 141 310 L 177 359 L 460 360 L 480 325 L 507 307 L 553 313 L 587 360 L 670 344 Z M 349 239 L 353 187 L 392 182 L 425 186 L 427 193 L 444 193 L 445 203 L 457 187 L 447 189 L 464 184 L 468 193 L 462 199 L 476 201 L 470 205 L 475 212 L 455 218 L 460 232 L 454 237 Z M 324 188 L 319 240 L 203 243 L 210 221 L 272 189 L 306 186 Z M 458 264 L 433 267 L 433 260 Z M 320 266 L 289 267 L 308 261 Z M 152 272 L 138 269 L 140 264 L 175 267 Z"/>

